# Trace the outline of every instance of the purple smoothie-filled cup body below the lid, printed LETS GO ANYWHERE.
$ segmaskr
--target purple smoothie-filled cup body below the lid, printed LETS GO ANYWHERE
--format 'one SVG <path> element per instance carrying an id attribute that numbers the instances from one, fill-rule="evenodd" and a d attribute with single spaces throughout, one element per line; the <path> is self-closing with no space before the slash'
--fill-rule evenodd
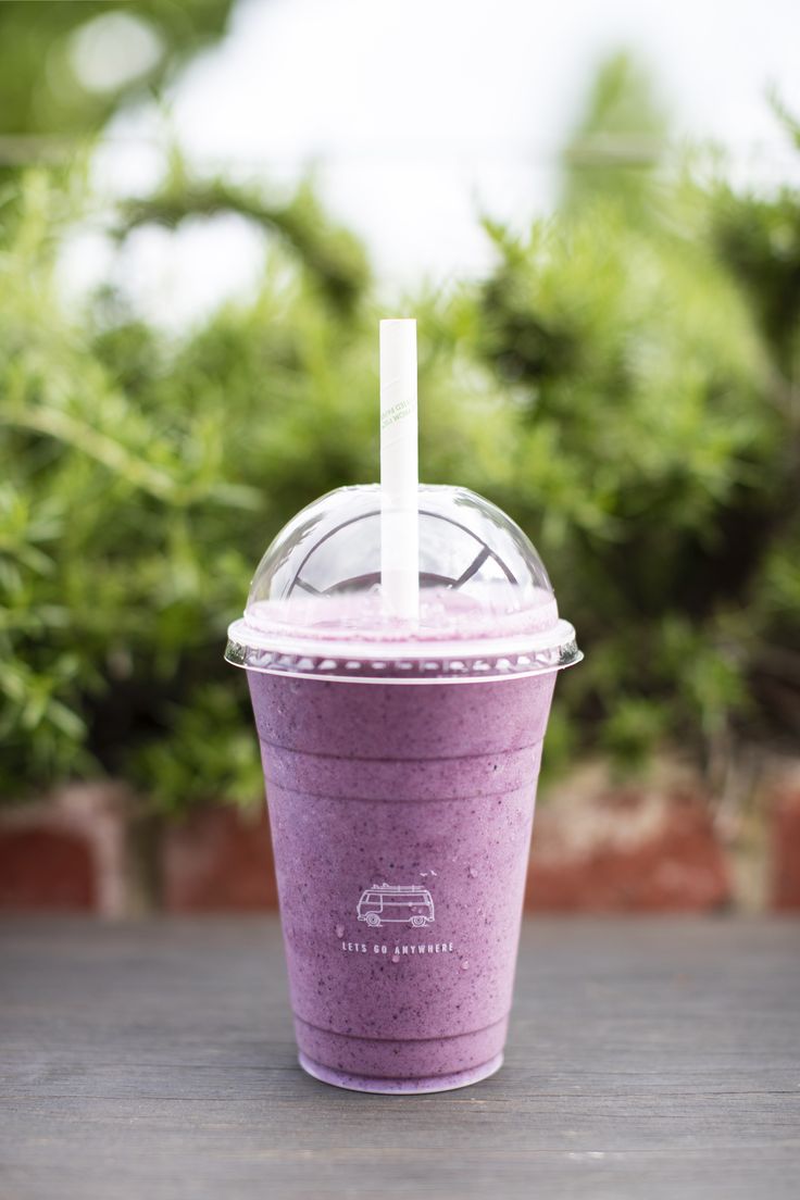
<path id="1" fill-rule="evenodd" d="M 375 1092 L 503 1061 L 555 672 L 247 672 L 300 1061 Z"/>

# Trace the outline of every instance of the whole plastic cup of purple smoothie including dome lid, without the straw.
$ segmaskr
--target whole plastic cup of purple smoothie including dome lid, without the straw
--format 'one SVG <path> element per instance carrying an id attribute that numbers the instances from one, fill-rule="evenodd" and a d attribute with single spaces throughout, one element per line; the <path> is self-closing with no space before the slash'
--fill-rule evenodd
<path id="1" fill-rule="evenodd" d="M 386 612 L 380 503 L 341 488 L 270 546 L 227 658 L 248 672 L 300 1063 L 432 1092 L 503 1061 L 542 739 L 579 660 L 499 509 L 421 487 L 420 617 Z"/>

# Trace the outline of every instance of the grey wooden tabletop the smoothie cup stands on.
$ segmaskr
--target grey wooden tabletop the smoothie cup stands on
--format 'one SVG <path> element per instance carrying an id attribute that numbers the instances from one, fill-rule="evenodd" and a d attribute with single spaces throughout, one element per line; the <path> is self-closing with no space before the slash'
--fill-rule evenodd
<path id="1" fill-rule="evenodd" d="M 542 919 L 506 1064 L 295 1064 L 277 923 L 0 924 L 2 1200 L 800 1195 L 800 923 Z"/>

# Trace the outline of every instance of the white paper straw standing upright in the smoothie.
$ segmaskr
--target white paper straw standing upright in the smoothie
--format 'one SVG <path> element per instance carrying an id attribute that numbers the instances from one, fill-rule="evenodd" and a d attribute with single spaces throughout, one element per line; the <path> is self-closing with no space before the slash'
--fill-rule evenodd
<path id="1" fill-rule="evenodd" d="M 384 605 L 420 607 L 416 322 L 380 322 L 380 582 Z"/>

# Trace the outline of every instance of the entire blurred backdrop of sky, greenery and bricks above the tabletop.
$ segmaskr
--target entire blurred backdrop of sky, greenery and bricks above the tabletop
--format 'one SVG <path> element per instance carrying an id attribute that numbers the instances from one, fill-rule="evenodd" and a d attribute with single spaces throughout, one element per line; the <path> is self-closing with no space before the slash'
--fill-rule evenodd
<path id="1" fill-rule="evenodd" d="M 421 463 L 587 659 L 529 902 L 800 907 L 793 0 L 0 4 L 0 906 L 275 904 L 264 547 Z"/>

